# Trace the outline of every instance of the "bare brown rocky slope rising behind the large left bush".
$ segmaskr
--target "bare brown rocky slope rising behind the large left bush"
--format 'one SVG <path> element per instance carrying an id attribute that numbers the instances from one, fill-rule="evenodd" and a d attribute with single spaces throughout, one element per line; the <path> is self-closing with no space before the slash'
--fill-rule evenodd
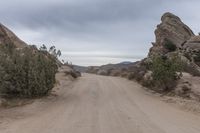
<path id="1" fill-rule="evenodd" d="M 20 40 L 12 31 L 0 24 L 0 44 L 14 44 L 17 48 L 27 46 L 25 42 Z"/>

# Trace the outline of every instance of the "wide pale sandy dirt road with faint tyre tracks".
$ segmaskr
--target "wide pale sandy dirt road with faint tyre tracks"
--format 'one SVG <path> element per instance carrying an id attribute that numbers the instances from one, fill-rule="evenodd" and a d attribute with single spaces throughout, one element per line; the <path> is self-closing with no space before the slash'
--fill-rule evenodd
<path id="1" fill-rule="evenodd" d="M 89 74 L 60 80 L 58 96 L 1 110 L 8 118 L 0 118 L 0 133 L 200 133 L 200 116 L 135 82 Z"/>

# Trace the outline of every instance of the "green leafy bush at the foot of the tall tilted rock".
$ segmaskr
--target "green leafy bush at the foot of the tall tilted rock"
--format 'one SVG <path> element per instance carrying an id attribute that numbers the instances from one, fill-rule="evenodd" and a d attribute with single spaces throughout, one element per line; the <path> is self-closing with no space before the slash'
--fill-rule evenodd
<path id="1" fill-rule="evenodd" d="M 152 60 L 151 70 L 155 88 L 168 91 L 176 86 L 180 76 L 177 72 L 182 72 L 182 63 L 176 55 L 171 58 L 157 56 Z"/>

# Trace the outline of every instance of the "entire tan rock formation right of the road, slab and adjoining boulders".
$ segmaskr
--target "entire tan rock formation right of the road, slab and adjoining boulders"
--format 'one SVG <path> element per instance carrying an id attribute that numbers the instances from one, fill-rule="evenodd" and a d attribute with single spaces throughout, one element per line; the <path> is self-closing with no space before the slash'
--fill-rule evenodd
<path id="1" fill-rule="evenodd" d="M 147 62 L 156 55 L 170 57 L 177 53 L 186 65 L 186 71 L 200 76 L 200 36 L 196 36 L 181 19 L 165 13 L 155 30 L 156 41 L 150 48 Z"/>

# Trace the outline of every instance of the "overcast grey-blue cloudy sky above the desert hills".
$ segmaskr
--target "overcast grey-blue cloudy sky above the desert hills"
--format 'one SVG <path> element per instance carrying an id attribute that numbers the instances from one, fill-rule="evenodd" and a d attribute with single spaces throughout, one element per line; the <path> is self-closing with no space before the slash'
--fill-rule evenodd
<path id="1" fill-rule="evenodd" d="M 199 0 L 4 0 L 0 22 L 28 44 L 55 45 L 62 58 L 101 65 L 144 58 L 164 12 L 200 31 Z"/>

